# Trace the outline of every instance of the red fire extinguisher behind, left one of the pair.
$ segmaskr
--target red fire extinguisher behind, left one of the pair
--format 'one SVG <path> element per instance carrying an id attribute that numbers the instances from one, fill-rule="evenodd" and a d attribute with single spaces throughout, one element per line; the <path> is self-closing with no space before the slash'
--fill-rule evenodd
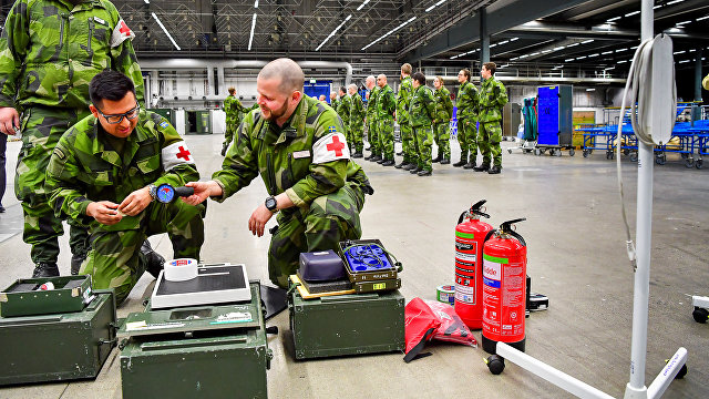
<path id="1" fill-rule="evenodd" d="M 455 313 L 471 329 L 483 327 L 482 257 L 485 236 L 493 227 L 481 217 L 486 200 L 461 214 L 455 226 Z M 463 222 L 464 221 L 464 222 Z"/>

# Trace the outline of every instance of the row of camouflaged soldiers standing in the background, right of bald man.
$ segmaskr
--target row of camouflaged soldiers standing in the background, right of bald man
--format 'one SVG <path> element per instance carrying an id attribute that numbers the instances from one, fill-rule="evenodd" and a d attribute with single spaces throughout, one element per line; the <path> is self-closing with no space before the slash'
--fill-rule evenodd
<path id="1" fill-rule="evenodd" d="M 419 176 L 432 174 L 432 163 L 449 164 L 450 121 L 453 116 L 451 94 L 443 79 L 433 81 L 435 90 L 427 86 L 425 75 L 417 72 L 411 75 L 412 68 L 405 63 L 401 66 L 401 88 L 397 96 L 387 84 L 387 76 L 380 74 L 374 85 L 374 76 L 368 76 L 368 106 L 364 108 L 357 86 L 351 84 L 348 93 L 340 89 L 340 100 L 331 94 L 331 105 L 337 110 L 347 126 L 347 141 L 354 151 L 352 157 L 362 157 L 362 135 L 364 122 L 368 126 L 368 141 L 371 154 L 368 161 L 378 162 L 382 166 L 394 166 Z M 476 172 L 500 173 L 502 170 L 502 108 L 507 103 L 507 92 L 494 78 L 495 63 L 487 62 L 481 70 L 482 86 L 480 91 L 471 83 L 469 70 L 461 70 L 458 75 L 458 141 L 461 146 L 461 160 L 453 164 L 456 167 L 472 168 Z M 366 119 L 366 121 L 364 121 Z M 402 155 L 400 164 L 394 162 L 393 122 L 400 126 Z M 432 144 L 435 140 L 438 156 L 432 158 Z M 482 163 L 476 164 L 477 150 L 482 154 Z"/>

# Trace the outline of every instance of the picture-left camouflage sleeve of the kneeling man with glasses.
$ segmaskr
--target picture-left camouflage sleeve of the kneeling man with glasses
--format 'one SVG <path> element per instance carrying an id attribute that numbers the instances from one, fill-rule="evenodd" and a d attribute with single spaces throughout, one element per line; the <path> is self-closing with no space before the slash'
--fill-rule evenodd
<path id="1" fill-rule="evenodd" d="M 86 190 L 79 178 L 82 168 L 73 147 L 65 136 L 60 139 L 47 167 L 44 190 L 56 217 L 69 216 L 75 221 L 90 222 L 86 207 L 91 201 L 84 196 Z"/>

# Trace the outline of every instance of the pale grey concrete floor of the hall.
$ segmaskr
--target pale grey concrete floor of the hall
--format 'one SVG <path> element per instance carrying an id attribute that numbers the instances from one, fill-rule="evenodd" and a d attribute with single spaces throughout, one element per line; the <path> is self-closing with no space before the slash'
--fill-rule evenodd
<path id="1" fill-rule="evenodd" d="M 202 175 L 219 168 L 222 135 L 187 136 Z M 512 143 L 503 143 L 505 147 Z M 452 143 L 454 161 L 460 150 Z M 9 165 L 19 143 L 8 145 Z M 379 238 L 404 265 L 401 293 L 407 300 L 434 298 L 435 287 L 453 282 L 453 229 L 462 211 L 487 200 L 492 224 L 526 217 L 518 224 L 528 244 L 533 291 L 549 297 L 547 311 L 527 319 L 527 354 L 614 396 L 623 397 L 629 375 L 633 270 L 625 254 L 615 163 L 603 153 L 584 158 L 504 152 L 504 170 L 493 176 L 434 165 L 432 177 L 360 162 L 376 194 L 362 212 L 364 238 Z M 624 160 L 626 197 L 635 227 L 637 167 Z M 8 167 L 12 175 L 12 166 Z M 646 385 L 675 350 L 689 351 L 689 374 L 675 381 L 667 398 L 709 397 L 709 326 L 691 318 L 688 295 L 709 295 L 709 172 L 687 170 L 678 161 L 655 168 L 653 269 L 650 276 Z M 23 244 L 21 209 L 12 181 L 0 215 L 0 286 L 27 277 L 32 265 Z M 268 282 L 268 238 L 253 237 L 247 219 L 266 197 L 260 178 L 224 204 L 212 203 L 206 217 L 206 262 L 244 263 L 250 278 Z M 271 221 L 270 224 L 274 222 Z M 151 238 L 169 257 L 166 235 Z M 69 273 L 62 238 L 61 270 Z M 141 310 L 153 287 L 143 276 L 124 317 Z M 492 376 L 481 348 L 432 344 L 433 356 L 404 364 L 402 354 L 295 361 L 284 345 L 288 314 L 270 320 L 280 335 L 269 338 L 275 358 L 268 371 L 271 398 L 567 398 L 568 393 L 512 364 Z M 480 331 L 475 331 L 480 340 Z M 0 345 L 12 345 L 1 342 Z M 0 398 L 120 398 L 117 349 L 94 381 L 0 389 Z M 1 367 L 0 367 L 1 369 Z M 234 372 L 238 372 L 235 370 Z"/>

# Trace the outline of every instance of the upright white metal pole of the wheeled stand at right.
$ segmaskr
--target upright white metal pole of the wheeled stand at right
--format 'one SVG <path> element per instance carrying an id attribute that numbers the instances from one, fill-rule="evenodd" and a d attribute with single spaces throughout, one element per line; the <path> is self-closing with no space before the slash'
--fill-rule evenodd
<path id="1" fill-rule="evenodd" d="M 640 4 L 640 42 L 653 38 L 653 1 Z M 620 115 L 623 117 L 623 115 Z M 619 139 L 619 137 L 618 137 Z M 618 141 L 618 145 L 620 142 Z M 650 244 L 653 232 L 653 145 L 638 140 L 638 196 L 636 222 L 635 289 L 633 300 L 633 340 L 630 349 L 630 381 L 625 398 L 646 398 L 645 360 L 647 351 L 647 318 L 650 290 Z"/>

